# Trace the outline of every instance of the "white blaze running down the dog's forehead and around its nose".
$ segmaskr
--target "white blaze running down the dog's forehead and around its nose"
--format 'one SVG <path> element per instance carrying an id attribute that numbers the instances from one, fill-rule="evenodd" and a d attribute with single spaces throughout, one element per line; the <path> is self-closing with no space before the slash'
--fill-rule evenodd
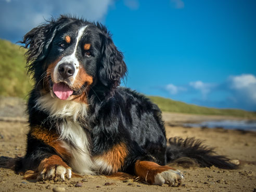
<path id="1" fill-rule="evenodd" d="M 83 26 L 82 28 L 79 29 L 78 31 L 78 35 L 76 36 L 76 40 L 75 40 L 75 46 L 74 46 L 74 51 L 71 55 L 65 56 L 63 57 L 58 64 L 56 65 L 55 69 L 54 69 L 54 82 L 58 83 L 58 68 L 59 65 L 61 65 L 62 63 L 70 63 L 71 65 L 73 65 L 75 71 L 74 74 L 72 75 L 72 81 L 74 82 L 76 75 L 78 74 L 79 71 L 79 61 L 78 58 L 75 57 L 75 53 L 76 50 L 78 49 L 78 44 L 81 40 L 81 38 L 83 37 L 84 31 L 87 28 L 87 25 Z"/>

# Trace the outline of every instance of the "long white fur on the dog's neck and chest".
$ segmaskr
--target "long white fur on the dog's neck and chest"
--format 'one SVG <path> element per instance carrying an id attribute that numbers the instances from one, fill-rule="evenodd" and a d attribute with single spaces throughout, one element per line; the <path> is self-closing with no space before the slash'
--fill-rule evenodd
<path id="1" fill-rule="evenodd" d="M 94 174 L 95 163 L 91 158 L 87 135 L 78 122 L 78 118 L 86 117 L 87 105 L 75 101 L 60 100 L 50 94 L 37 99 L 36 107 L 50 113 L 53 118 L 64 120 L 57 126 L 62 142 L 71 155 L 69 166 L 80 174 Z"/>

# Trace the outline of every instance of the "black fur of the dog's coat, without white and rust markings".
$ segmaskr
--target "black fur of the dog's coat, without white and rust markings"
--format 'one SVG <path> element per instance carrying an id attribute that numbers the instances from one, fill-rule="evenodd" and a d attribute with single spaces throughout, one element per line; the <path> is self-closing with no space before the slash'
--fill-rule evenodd
<path id="1" fill-rule="evenodd" d="M 94 81 L 87 93 L 88 115 L 79 117 L 78 121 L 91 141 L 93 157 L 122 142 L 128 154 L 119 171 L 131 174 L 134 174 L 134 163 L 137 160 L 165 165 L 181 157 L 196 159 L 203 167 L 215 165 L 226 169 L 235 168 L 226 157 L 214 156 L 213 150 L 202 146 L 199 140 L 171 138 L 170 146 L 167 147 L 161 111 L 157 105 L 131 89 L 118 87 L 127 69 L 123 55 L 113 44 L 107 29 L 99 23 L 78 18 L 61 16 L 57 20 L 53 19 L 48 24 L 31 30 L 21 42 L 28 48 L 28 71 L 35 79 L 28 102 L 31 129 L 41 126 L 54 131 L 59 124 L 66 121 L 50 116 L 49 112 L 36 105 L 36 100 L 45 94 L 42 89 L 49 86 L 44 85 L 42 81 L 42 74 L 49 63 L 57 57 L 70 54 L 68 45 L 65 45 L 64 50 L 58 46 L 61 37 L 69 30 L 77 30 L 81 25 L 89 26 L 88 39 L 83 41 L 92 44 L 93 57 L 85 58 L 83 50 L 79 49 L 79 59 Z M 78 93 L 79 91 L 81 90 L 78 90 Z M 72 145 L 72 141 L 69 142 Z M 40 161 L 50 155 L 57 155 L 57 151 L 29 133 L 26 155 L 17 162 L 16 171 L 35 170 Z"/>

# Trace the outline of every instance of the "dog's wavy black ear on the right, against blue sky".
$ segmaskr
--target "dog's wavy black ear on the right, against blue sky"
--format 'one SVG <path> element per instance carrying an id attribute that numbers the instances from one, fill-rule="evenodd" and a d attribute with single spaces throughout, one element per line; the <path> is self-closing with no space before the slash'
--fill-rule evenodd
<path id="1" fill-rule="evenodd" d="M 123 54 L 114 45 L 109 34 L 100 35 L 102 41 L 102 57 L 99 68 L 99 80 L 110 89 L 120 85 L 125 76 L 126 65 Z"/>

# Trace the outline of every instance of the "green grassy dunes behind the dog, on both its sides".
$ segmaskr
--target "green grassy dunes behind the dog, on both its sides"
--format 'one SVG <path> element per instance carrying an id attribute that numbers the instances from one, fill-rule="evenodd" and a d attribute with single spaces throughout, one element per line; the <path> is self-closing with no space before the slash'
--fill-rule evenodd
<path id="1" fill-rule="evenodd" d="M 25 70 L 25 49 L 9 41 L 0 39 L 0 96 L 12 96 L 26 98 L 33 82 L 27 78 Z M 156 103 L 162 111 L 216 114 L 236 117 L 256 117 L 256 113 L 238 109 L 215 109 L 188 105 L 162 97 L 149 98 Z"/>

